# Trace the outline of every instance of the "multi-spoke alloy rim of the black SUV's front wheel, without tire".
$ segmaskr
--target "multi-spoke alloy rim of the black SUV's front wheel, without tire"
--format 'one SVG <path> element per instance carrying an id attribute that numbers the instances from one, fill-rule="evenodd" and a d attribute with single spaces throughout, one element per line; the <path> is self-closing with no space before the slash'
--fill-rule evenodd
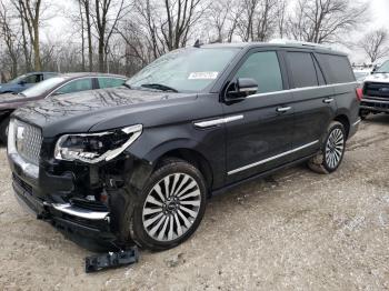
<path id="1" fill-rule="evenodd" d="M 192 177 L 169 174 L 153 185 L 144 201 L 143 229 L 157 241 L 173 241 L 191 228 L 200 204 L 200 188 Z"/>

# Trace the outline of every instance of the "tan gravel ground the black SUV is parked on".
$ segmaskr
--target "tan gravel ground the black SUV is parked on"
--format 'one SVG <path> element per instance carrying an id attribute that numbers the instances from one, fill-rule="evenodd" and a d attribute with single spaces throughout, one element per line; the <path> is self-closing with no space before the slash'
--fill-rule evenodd
<path id="1" fill-rule="evenodd" d="M 389 117 L 361 124 L 331 175 L 300 165 L 209 201 L 197 233 L 136 265 L 91 254 L 16 202 L 0 149 L 0 290 L 389 289 Z"/>

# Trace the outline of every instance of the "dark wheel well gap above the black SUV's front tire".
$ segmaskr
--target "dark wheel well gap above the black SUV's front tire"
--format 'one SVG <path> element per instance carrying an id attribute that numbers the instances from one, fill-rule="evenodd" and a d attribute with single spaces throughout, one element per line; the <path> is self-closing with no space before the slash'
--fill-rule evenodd
<path id="1" fill-rule="evenodd" d="M 213 182 L 212 169 L 208 160 L 201 153 L 190 149 L 176 149 L 164 153 L 161 158 L 159 158 L 158 162 L 167 158 L 178 158 L 194 165 L 206 179 L 208 190 L 211 190 Z"/>

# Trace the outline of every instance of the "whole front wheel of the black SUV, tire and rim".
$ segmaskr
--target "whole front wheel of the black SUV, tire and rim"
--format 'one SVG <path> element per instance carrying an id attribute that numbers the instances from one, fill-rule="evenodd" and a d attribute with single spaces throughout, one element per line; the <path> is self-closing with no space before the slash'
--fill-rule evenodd
<path id="1" fill-rule="evenodd" d="M 201 172 L 179 159 L 167 160 L 137 199 L 131 239 L 140 247 L 167 250 L 186 241 L 206 210 L 207 188 Z"/>

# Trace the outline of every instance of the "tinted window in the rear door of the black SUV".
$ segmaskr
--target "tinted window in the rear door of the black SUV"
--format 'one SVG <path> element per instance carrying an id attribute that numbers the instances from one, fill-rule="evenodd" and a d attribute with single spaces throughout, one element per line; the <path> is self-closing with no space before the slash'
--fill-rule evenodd
<path id="1" fill-rule="evenodd" d="M 319 84 L 310 53 L 288 52 L 287 56 L 293 88 L 313 87 Z"/>

